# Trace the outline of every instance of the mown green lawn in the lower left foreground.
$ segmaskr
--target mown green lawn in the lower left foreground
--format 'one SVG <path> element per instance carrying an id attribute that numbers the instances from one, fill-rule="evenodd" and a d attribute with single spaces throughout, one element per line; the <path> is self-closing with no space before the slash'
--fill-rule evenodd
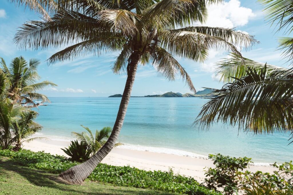
<path id="1" fill-rule="evenodd" d="M 0 194 L 170 194 L 134 187 L 117 187 L 86 180 L 83 185 L 68 185 L 56 175 L 19 165 L 0 156 Z"/>

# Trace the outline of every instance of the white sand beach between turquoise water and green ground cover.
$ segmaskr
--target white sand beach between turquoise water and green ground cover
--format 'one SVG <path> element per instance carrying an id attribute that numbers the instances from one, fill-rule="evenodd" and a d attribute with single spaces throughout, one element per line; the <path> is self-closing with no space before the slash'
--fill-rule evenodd
<path id="1" fill-rule="evenodd" d="M 24 144 L 25 149 L 32 151 L 45 151 L 51 154 L 64 155 L 60 149 L 67 147 L 70 142 L 54 140 L 35 140 Z M 172 168 L 174 173 L 194 177 L 199 182 L 204 180 L 204 168 L 214 167 L 213 162 L 203 158 L 192 158 L 187 156 L 177 156 L 173 154 L 155 153 L 149 151 L 136 151 L 130 149 L 113 149 L 102 163 L 109 165 L 130 165 L 144 170 L 168 171 Z M 252 172 L 257 170 L 272 173 L 275 168 L 271 166 L 253 166 L 248 169 Z"/>

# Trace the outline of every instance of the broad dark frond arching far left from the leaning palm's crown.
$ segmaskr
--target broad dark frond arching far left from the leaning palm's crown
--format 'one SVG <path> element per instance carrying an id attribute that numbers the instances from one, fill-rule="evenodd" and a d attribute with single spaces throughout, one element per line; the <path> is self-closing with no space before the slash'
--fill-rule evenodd
<path id="1" fill-rule="evenodd" d="M 47 48 L 108 36 L 105 21 L 75 11 L 59 11 L 51 20 L 30 21 L 20 27 L 14 42 L 20 48 Z"/>

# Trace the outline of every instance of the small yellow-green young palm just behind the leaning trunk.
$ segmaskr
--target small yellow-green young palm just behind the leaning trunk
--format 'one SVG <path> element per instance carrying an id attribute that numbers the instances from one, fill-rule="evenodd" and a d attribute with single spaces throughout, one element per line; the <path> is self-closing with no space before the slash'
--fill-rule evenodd
<path id="1" fill-rule="evenodd" d="M 107 140 L 110 137 L 110 134 L 112 132 L 111 127 L 103 127 L 101 130 L 96 130 L 96 134 L 93 135 L 92 131 L 83 125 L 81 127 L 84 127 L 87 132 L 83 131 L 81 133 L 72 132 L 72 134 L 76 137 L 76 139 L 83 144 L 86 144 L 88 146 L 88 150 L 91 151 L 91 156 L 95 155 L 102 146 L 107 142 Z M 122 145 L 120 142 L 115 144 L 116 146 Z"/>

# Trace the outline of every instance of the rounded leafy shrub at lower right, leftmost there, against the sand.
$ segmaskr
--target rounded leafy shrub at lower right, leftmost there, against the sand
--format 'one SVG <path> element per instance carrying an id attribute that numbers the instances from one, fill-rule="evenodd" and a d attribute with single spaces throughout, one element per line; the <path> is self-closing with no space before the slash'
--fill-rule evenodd
<path id="1" fill-rule="evenodd" d="M 241 175 L 243 170 L 247 168 L 251 158 L 247 157 L 230 157 L 221 154 L 209 155 L 209 159 L 214 161 L 216 168 L 208 168 L 205 171 L 205 183 L 207 187 L 212 189 L 223 188 L 226 194 L 233 194 L 238 191 L 241 186 Z"/>

